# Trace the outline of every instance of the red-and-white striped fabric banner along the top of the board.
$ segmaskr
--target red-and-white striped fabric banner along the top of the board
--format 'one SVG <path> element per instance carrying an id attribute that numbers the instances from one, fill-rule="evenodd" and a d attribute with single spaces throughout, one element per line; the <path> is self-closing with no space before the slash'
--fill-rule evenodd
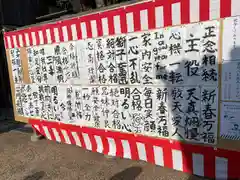
<path id="1" fill-rule="evenodd" d="M 17 48 L 136 32 L 240 15 L 238 0 L 156 0 L 4 34 Z"/>

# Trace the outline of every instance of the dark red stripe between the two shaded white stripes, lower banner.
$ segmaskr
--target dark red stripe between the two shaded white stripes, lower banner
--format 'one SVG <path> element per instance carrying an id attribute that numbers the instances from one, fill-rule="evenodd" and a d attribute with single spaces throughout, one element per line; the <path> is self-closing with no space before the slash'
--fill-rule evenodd
<path id="1" fill-rule="evenodd" d="M 215 156 L 214 152 L 204 153 L 204 176 L 215 178 Z"/>

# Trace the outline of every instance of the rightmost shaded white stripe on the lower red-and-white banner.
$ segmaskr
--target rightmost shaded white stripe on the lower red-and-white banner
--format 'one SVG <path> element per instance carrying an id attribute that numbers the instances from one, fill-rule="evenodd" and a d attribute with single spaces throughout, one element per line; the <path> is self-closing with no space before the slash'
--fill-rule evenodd
<path id="1" fill-rule="evenodd" d="M 226 158 L 216 157 L 216 179 L 228 179 L 228 160 Z"/>

